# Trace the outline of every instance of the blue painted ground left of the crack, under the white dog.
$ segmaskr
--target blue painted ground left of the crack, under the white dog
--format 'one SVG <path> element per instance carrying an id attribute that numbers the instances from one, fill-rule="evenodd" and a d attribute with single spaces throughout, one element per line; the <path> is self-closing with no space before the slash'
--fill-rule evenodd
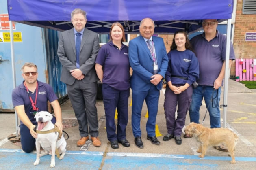
<path id="1" fill-rule="evenodd" d="M 67 151 L 63 160 L 55 157 L 55 168 L 62 170 L 95 170 L 100 167 L 103 153 L 100 152 L 79 152 Z M 21 150 L 0 149 L 0 169 L 28 169 L 28 170 L 42 170 L 49 169 L 51 156 L 46 155 L 40 157 L 39 165 L 34 166 L 36 153 L 24 153 Z"/>

